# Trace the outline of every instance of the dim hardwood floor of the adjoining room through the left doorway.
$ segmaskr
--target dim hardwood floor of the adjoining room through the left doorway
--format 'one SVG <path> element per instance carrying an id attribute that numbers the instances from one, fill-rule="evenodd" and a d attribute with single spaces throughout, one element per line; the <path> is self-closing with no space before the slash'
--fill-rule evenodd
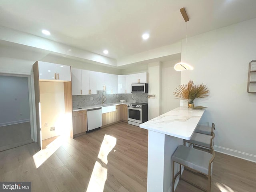
<path id="1" fill-rule="evenodd" d="M 0 127 L 0 151 L 32 142 L 30 122 Z"/>

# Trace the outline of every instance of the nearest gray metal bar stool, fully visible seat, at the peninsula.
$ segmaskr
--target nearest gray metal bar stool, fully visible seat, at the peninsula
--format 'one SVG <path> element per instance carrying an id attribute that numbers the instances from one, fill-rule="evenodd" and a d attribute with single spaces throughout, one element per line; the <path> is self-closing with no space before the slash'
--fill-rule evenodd
<path id="1" fill-rule="evenodd" d="M 215 152 L 213 147 L 211 146 L 211 153 L 190 148 L 184 145 L 178 146 L 174 154 L 172 155 L 172 191 L 174 192 L 174 183 L 177 176 L 180 176 L 180 180 L 184 180 L 201 190 L 206 192 L 211 191 L 211 180 L 212 180 L 212 162 L 215 158 Z M 180 165 L 179 172 L 174 176 L 174 163 L 178 163 Z M 208 186 L 207 190 L 197 186 L 189 182 L 188 180 L 181 177 L 181 165 L 185 166 L 185 168 L 190 168 L 190 170 L 194 170 L 195 172 L 199 172 L 205 175 L 208 178 Z"/>

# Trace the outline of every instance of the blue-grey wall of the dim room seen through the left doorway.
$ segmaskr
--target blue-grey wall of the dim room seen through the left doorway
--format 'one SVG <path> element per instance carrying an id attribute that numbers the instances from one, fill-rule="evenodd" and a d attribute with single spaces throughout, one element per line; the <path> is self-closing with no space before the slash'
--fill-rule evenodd
<path id="1" fill-rule="evenodd" d="M 0 75 L 0 126 L 30 121 L 28 78 Z"/>

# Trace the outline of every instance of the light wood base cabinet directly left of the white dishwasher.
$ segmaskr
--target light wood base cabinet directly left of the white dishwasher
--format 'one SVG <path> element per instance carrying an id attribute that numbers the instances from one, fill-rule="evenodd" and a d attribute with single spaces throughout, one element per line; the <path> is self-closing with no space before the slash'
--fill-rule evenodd
<path id="1" fill-rule="evenodd" d="M 87 131 L 87 110 L 73 112 L 73 134 L 81 134 Z"/>

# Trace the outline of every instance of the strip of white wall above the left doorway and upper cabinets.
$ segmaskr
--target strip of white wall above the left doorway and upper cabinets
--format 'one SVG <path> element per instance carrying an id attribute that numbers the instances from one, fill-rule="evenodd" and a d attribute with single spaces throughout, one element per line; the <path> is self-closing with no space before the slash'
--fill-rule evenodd
<path id="1" fill-rule="evenodd" d="M 36 61 L 52 62 L 56 64 L 69 65 L 74 68 L 99 71 L 112 74 L 121 74 L 121 69 L 96 65 L 88 62 L 82 62 L 54 56 L 43 50 L 32 50 L 31 48 L 13 47 L 0 44 L 0 71 L 31 73 L 32 66 Z"/>

